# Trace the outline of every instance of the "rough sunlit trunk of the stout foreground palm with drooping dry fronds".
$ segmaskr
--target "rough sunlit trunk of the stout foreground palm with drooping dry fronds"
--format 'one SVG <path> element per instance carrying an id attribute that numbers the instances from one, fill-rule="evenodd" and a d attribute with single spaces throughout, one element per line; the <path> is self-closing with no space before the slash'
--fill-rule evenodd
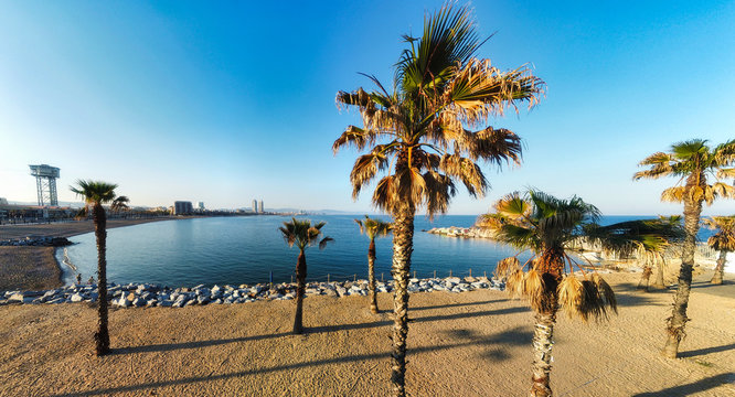
<path id="1" fill-rule="evenodd" d="M 536 324 L 533 331 L 533 386 L 529 396 L 547 397 L 552 396 L 550 375 L 552 362 L 552 346 L 554 342 L 554 324 L 556 323 L 556 310 L 550 313 L 540 313 L 536 315 Z"/>

